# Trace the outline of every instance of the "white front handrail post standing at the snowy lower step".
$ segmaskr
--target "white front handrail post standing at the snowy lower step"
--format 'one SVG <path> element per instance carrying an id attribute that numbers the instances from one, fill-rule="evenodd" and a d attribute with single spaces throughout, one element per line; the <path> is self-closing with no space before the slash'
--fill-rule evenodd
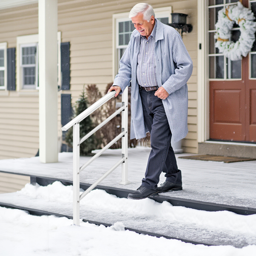
<path id="1" fill-rule="evenodd" d="M 79 122 L 73 125 L 73 224 L 80 224 L 80 135 Z"/>

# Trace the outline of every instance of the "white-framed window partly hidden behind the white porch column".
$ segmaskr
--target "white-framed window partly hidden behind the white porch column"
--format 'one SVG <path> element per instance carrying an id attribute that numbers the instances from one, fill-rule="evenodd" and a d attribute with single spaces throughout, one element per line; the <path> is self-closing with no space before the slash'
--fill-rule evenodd
<path id="1" fill-rule="evenodd" d="M 61 84 L 61 32 L 58 32 L 58 85 Z M 38 84 L 38 34 L 17 37 L 17 90 L 36 90 Z"/>

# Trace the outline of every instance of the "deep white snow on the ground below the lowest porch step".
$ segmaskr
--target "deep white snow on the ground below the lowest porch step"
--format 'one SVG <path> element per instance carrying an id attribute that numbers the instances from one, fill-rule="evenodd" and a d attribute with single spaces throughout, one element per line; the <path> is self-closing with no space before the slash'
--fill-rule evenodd
<path id="1" fill-rule="evenodd" d="M 256 255 L 256 246 L 186 244 L 124 231 L 122 223 L 96 226 L 55 216 L 32 216 L 0 207 L 0 254 L 3 256 L 244 256 Z"/>

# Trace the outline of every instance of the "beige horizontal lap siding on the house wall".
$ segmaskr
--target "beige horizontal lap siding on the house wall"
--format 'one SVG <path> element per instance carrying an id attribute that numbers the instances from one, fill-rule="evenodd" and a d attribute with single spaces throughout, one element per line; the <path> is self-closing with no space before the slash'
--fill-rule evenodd
<path id="1" fill-rule="evenodd" d="M 71 93 L 74 105 L 84 84 L 97 84 L 102 92 L 105 91 L 106 85 L 113 81 L 112 15 L 129 12 L 136 3 L 131 0 L 58 1 L 61 42 L 70 42 L 70 90 L 58 93 L 59 137 L 61 93 Z M 185 152 L 197 153 L 197 0 L 168 0 L 160 3 L 148 0 L 148 3 L 154 8 L 172 6 L 173 12 L 188 14 L 187 23 L 193 25 L 193 31 L 183 35 L 194 70 L 188 81 L 189 133 L 182 145 Z M 7 42 L 8 48 L 16 47 L 17 36 L 37 33 L 37 4 L 0 10 L 0 42 Z M 38 91 L 0 91 L 0 159 L 35 156 L 39 148 L 38 113 Z M 21 183 L 27 182 L 24 177 L 16 176 L 13 186 L 11 178 L 8 181 L 9 187 L 15 187 L 19 179 Z"/>

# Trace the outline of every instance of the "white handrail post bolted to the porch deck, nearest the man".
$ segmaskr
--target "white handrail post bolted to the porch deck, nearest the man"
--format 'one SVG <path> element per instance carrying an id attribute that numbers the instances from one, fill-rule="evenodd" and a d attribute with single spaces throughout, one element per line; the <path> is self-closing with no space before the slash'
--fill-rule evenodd
<path id="1" fill-rule="evenodd" d="M 128 87 L 122 93 L 122 105 L 125 106 L 122 111 L 122 131 L 125 132 L 122 137 L 122 157 L 125 161 L 122 163 L 122 180 L 119 184 L 127 185 L 131 183 L 128 181 Z"/>

